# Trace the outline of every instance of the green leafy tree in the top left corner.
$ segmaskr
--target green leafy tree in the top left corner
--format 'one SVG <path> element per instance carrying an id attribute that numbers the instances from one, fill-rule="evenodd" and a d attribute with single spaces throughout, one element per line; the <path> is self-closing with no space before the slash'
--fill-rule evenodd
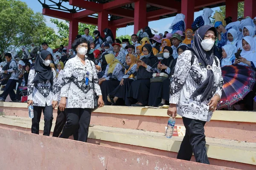
<path id="1" fill-rule="evenodd" d="M 0 53 L 32 42 L 55 41 L 55 32 L 46 26 L 44 16 L 20 0 L 0 0 L 0 20 Z"/>

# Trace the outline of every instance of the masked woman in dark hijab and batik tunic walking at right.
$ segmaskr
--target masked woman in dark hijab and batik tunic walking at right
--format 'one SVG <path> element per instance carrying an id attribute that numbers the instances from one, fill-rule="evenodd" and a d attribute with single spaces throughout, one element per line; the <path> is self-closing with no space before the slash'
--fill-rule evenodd
<path id="1" fill-rule="evenodd" d="M 209 122 L 221 99 L 223 78 L 219 60 L 213 55 L 217 31 L 202 26 L 195 33 L 193 47 L 177 59 L 170 85 L 169 116 L 182 116 L 186 134 L 177 159 L 209 164 L 204 125 Z"/>

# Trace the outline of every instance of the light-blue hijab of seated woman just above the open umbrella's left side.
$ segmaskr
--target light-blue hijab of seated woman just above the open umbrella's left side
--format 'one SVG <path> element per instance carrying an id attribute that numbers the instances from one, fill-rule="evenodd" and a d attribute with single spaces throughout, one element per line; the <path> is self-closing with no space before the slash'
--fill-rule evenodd
<path id="1" fill-rule="evenodd" d="M 224 45 L 222 47 L 225 52 L 227 53 L 227 57 L 226 58 L 222 58 L 221 60 L 221 67 L 225 66 L 225 65 L 232 65 L 232 60 L 233 60 L 233 57 L 237 51 L 237 48 L 236 48 L 236 45 L 232 45 L 232 44 L 227 44 L 227 45 Z"/>

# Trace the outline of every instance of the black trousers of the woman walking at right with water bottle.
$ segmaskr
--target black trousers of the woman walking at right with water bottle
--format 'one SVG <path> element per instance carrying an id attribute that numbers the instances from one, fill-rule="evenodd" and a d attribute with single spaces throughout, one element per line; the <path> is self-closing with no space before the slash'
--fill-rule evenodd
<path id="1" fill-rule="evenodd" d="M 210 164 L 205 147 L 204 125 L 206 122 L 186 117 L 182 117 L 182 119 L 186 127 L 186 134 L 181 142 L 177 159 L 190 161 L 192 153 L 194 153 L 197 162 Z"/>

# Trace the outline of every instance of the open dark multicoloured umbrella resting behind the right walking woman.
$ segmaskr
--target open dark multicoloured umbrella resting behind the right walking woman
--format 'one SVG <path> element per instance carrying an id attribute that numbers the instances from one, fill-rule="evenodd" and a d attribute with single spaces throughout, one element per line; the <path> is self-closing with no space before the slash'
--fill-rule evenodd
<path id="1" fill-rule="evenodd" d="M 243 65 L 227 65 L 221 68 L 224 80 L 218 109 L 231 107 L 244 98 L 255 84 L 255 71 Z"/>

